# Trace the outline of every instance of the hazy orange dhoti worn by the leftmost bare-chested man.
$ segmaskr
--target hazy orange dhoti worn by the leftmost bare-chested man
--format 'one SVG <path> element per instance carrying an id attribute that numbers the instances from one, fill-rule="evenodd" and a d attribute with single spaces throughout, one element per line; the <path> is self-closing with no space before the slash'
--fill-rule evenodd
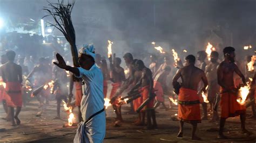
<path id="1" fill-rule="evenodd" d="M 6 104 L 22 107 L 22 85 L 19 82 L 6 82 Z"/>

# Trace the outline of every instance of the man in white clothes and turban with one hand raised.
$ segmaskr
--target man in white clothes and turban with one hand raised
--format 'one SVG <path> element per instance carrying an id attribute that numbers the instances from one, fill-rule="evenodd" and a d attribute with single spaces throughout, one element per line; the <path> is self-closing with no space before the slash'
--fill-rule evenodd
<path id="1" fill-rule="evenodd" d="M 106 131 L 103 74 L 95 64 L 93 45 L 84 45 L 79 50 L 79 68 L 67 66 L 60 54 L 56 54 L 56 58 L 59 63 L 53 62 L 55 65 L 83 78 L 86 84 L 80 109 L 83 121 L 79 123 L 74 142 L 103 142 Z"/>

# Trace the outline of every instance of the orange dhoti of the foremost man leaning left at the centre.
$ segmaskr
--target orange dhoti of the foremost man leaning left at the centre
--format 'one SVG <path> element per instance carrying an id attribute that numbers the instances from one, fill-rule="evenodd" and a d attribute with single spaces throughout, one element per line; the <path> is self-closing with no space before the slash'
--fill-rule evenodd
<path id="1" fill-rule="evenodd" d="M 142 101 L 139 104 L 139 106 L 150 96 L 150 90 L 149 90 L 149 86 L 143 87 L 142 89 L 140 89 L 140 94 L 142 95 Z M 138 107 L 139 107 L 138 106 Z M 149 103 L 147 103 L 146 106 L 144 106 L 143 108 L 144 110 L 149 110 L 149 109 L 154 109 L 154 98 L 151 99 L 151 101 Z"/>

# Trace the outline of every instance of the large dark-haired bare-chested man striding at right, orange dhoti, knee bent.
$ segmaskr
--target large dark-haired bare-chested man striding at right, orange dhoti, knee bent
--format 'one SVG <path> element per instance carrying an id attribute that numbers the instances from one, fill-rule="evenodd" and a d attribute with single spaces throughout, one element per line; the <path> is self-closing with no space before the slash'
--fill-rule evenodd
<path id="1" fill-rule="evenodd" d="M 223 53 L 225 59 L 220 63 L 217 72 L 218 83 L 221 87 L 220 92 L 222 93 L 220 96 L 221 118 L 219 138 L 225 139 L 227 137 L 223 134 L 223 130 L 228 117 L 240 115 L 242 132 L 247 134 L 250 134 L 250 132 L 245 129 L 246 107 L 237 102 L 238 91 L 235 89 L 233 81 L 233 75 L 237 73 L 242 78 L 244 85 L 246 85 L 245 77 L 234 63 L 235 49 L 233 47 L 225 47 Z"/>

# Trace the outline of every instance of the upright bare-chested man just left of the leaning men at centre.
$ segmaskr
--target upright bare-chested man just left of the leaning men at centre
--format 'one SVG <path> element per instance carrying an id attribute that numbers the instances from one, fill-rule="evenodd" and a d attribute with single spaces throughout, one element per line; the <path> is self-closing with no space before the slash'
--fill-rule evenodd
<path id="1" fill-rule="evenodd" d="M 110 98 L 112 98 L 116 94 L 117 90 L 121 87 L 122 82 L 125 81 L 124 69 L 120 67 L 121 61 L 122 60 L 120 58 L 116 58 L 115 56 L 113 59 L 112 59 L 112 56 L 109 58 L 111 75 L 112 75 L 110 80 L 113 82 Z M 116 113 L 116 117 L 117 117 L 116 119 L 118 121 L 123 121 L 121 106 L 118 105 L 118 103 L 119 101 L 116 98 L 116 101 L 112 102 L 111 104 L 113 106 L 114 112 Z"/>

